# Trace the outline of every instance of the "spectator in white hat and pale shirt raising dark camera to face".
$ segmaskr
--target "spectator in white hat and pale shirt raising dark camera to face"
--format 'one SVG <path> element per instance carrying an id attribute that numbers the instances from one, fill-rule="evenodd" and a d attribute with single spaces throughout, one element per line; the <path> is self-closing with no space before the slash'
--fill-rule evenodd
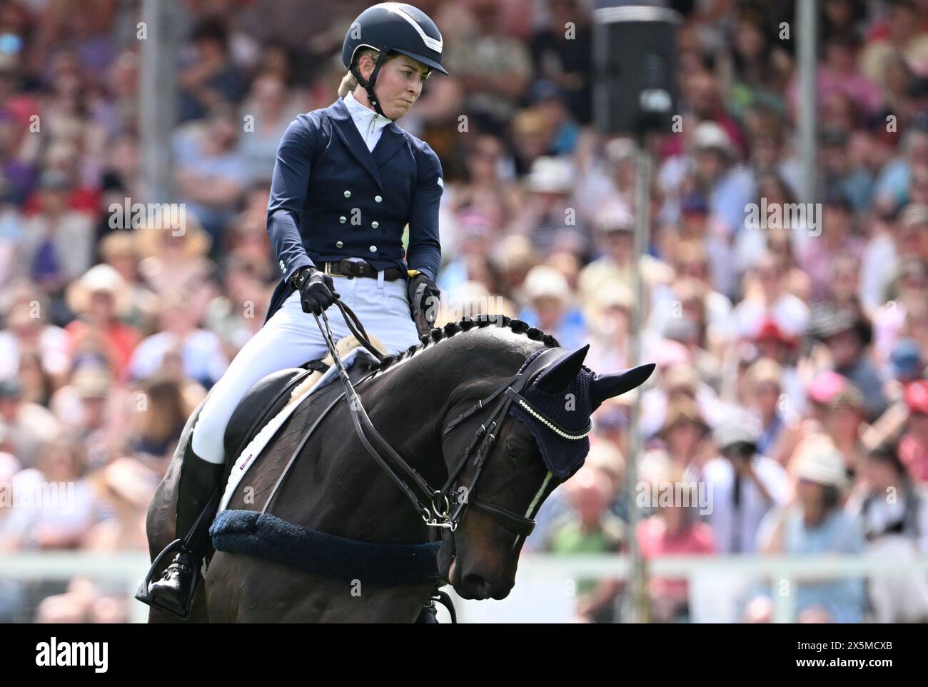
<path id="1" fill-rule="evenodd" d="M 701 479 L 712 489 L 706 517 L 720 553 L 750 553 L 764 516 L 790 496 L 786 471 L 757 450 L 760 423 L 747 412 L 733 413 L 713 431 L 718 455 L 706 462 Z"/>

